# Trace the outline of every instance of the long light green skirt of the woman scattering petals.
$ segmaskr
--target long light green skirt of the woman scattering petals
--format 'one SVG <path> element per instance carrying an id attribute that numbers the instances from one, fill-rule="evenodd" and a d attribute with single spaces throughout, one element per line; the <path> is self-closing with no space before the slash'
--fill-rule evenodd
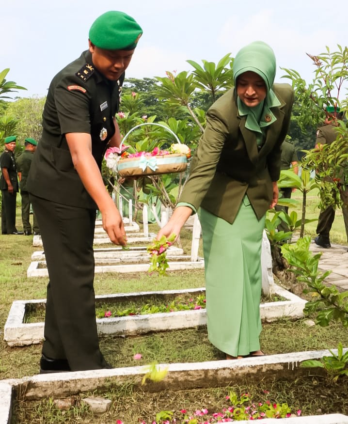
<path id="1" fill-rule="evenodd" d="M 206 313 L 210 343 L 231 356 L 260 349 L 261 245 L 265 216 L 257 220 L 247 196 L 233 224 L 203 208 Z"/>

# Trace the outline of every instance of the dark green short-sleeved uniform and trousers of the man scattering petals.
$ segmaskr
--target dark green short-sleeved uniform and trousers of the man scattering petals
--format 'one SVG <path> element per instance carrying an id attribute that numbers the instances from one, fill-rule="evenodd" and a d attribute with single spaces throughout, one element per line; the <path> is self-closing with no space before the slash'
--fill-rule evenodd
<path id="1" fill-rule="evenodd" d="M 106 362 L 99 350 L 93 290 L 96 204 L 74 169 L 64 134 L 91 134 L 92 154 L 101 168 L 115 132 L 123 80 L 124 75 L 114 82 L 105 79 L 89 51 L 54 77 L 27 181 L 49 271 L 42 352 L 66 358 L 73 370 L 104 368 Z"/>

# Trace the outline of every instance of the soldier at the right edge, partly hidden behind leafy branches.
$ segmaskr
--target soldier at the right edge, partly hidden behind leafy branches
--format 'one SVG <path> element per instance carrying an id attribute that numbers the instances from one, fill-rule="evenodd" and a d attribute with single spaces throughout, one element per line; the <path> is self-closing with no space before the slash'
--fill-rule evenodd
<path id="1" fill-rule="evenodd" d="M 331 116 L 327 116 L 325 119 L 325 124 L 320 126 L 316 131 L 316 149 L 319 144 L 331 144 L 337 138 L 337 132 L 335 128 L 337 126 L 336 119 L 342 119 L 343 114 L 339 111 L 339 108 L 334 108 L 333 106 L 327 107 L 327 112 L 332 114 Z M 347 209 L 347 201 L 348 201 L 348 190 L 340 190 L 341 200 L 342 200 L 342 213 L 343 219 L 346 227 L 346 235 L 348 240 L 348 209 Z M 315 243 L 323 247 L 325 249 L 331 248 L 330 243 L 330 230 L 332 227 L 333 220 L 335 219 L 335 208 L 333 206 L 328 206 L 326 209 L 320 211 L 318 224 L 316 226 L 316 234 L 318 236 L 315 237 Z"/>

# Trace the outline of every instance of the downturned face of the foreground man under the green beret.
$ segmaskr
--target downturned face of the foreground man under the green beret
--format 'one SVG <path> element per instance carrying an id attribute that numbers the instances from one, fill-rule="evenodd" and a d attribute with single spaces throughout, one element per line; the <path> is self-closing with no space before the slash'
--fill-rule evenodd
<path id="1" fill-rule="evenodd" d="M 95 67 L 105 78 L 117 81 L 127 69 L 133 56 L 133 50 L 105 50 L 89 41 L 89 51 Z"/>

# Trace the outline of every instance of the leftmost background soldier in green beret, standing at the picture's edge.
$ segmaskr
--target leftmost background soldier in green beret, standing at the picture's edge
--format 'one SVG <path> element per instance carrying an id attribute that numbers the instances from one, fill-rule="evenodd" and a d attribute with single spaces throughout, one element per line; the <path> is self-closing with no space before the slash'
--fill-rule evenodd
<path id="1" fill-rule="evenodd" d="M 5 151 L 0 156 L 1 234 L 23 234 L 16 229 L 18 179 L 15 150 L 16 136 L 6 137 Z"/>

